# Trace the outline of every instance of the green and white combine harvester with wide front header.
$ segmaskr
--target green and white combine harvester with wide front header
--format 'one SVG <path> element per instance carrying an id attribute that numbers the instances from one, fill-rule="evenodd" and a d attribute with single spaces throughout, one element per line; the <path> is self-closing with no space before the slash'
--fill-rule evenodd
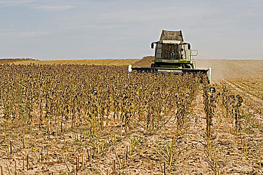
<path id="1" fill-rule="evenodd" d="M 151 67 L 132 67 L 129 65 L 129 72 L 172 72 L 174 74 L 184 73 L 206 73 L 207 79 L 211 81 L 211 68 L 197 69 L 193 56 L 198 54 L 198 50 L 192 50 L 190 43 L 184 42 L 182 30 L 168 31 L 162 30 L 159 41 L 152 42 L 154 48 L 154 63 Z"/>

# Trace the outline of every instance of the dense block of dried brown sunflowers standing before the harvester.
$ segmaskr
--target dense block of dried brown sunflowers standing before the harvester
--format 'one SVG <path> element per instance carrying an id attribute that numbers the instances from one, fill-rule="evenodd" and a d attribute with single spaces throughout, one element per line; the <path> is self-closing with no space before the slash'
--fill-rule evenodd
<path id="1" fill-rule="evenodd" d="M 175 113 L 177 125 L 195 96 L 200 76 L 128 73 L 125 66 L 1 65 L 0 106 L 6 126 L 87 126 L 90 133 L 112 120 L 153 133 Z"/>

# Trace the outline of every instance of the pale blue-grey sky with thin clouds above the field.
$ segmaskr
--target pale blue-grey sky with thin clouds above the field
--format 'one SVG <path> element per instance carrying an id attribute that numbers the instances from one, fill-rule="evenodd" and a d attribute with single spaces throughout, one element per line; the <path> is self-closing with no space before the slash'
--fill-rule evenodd
<path id="1" fill-rule="evenodd" d="M 162 29 L 197 58 L 263 59 L 263 0 L 0 0 L 0 57 L 141 58 Z"/>

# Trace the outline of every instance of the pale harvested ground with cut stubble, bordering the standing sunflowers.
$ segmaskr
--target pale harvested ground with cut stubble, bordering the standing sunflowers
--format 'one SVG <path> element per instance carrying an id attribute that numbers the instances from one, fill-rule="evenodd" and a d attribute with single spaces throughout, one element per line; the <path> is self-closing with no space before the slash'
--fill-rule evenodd
<path id="1" fill-rule="evenodd" d="M 1 128 L 3 173 L 9 174 L 10 168 L 11 174 L 16 174 L 16 169 L 17 174 L 76 174 L 76 169 L 77 174 L 110 174 L 113 170 L 116 174 L 263 174 L 262 61 L 196 60 L 196 64 L 200 68 L 212 67 L 215 79 L 212 85 L 217 92 L 226 85 L 234 95 L 244 99 L 239 132 L 222 104 L 216 104 L 211 148 L 207 144 L 200 87 L 180 130 L 176 130 L 174 113 L 166 116 L 168 122 L 156 133 L 146 135 L 130 127 L 122 139 L 116 124 L 119 121 L 112 116 L 109 116 L 112 124 L 94 136 L 88 135 L 85 127 L 67 131 L 37 125 Z M 232 81 L 236 77 L 242 78 Z"/>

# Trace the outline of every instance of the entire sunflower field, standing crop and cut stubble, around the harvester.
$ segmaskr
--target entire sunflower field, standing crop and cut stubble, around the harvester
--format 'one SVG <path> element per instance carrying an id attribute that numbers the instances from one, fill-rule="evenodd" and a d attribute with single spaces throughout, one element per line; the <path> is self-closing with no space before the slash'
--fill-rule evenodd
<path id="1" fill-rule="evenodd" d="M 261 174 L 262 61 L 127 72 L 152 58 L 1 64 L 3 174 Z"/>

